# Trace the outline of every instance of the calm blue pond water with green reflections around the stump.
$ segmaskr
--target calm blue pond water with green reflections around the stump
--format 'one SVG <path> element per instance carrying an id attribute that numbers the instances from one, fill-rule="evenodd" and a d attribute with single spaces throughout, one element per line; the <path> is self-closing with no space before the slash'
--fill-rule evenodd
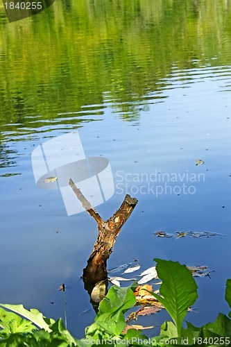
<path id="1" fill-rule="evenodd" d="M 64 318 L 65 283 L 69 330 L 83 337 L 94 321 L 80 276 L 96 222 L 86 212 L 67 216 L 60 191 L 37 187 L 31 164 L 37 146 L 78 130 L 85 155 L 112 168 L 114 194 L 96 207 L 101 217 L 127 192 L 139 201 L 108 267 L 135 258 L 143 271 L 154 257 L 208 266 L 214 272 L 196 279 L 198 313 L 187 320 L 228 313 L 230 1 L 55 1 L 11 24 L 0 9 L 1 302 Z M 157 230 L 225 236 L 160 238 Z M 164 319 L 162 310 L 139 323 Z"/>

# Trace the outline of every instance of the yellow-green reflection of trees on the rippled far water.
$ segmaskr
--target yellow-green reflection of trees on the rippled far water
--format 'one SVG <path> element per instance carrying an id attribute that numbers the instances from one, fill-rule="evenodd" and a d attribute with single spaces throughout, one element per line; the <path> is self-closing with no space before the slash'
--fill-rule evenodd
<path id="1" fill-rule="evenodd" d="M 149 102 L 164 101 L 173 65 L 230 64 L 229 0 L 63 0 L 11 24 L 3 11 L 1 133 L 78 128 L 108 104 L 135 121 Z M 84 105 L 94 113 L 83 115 Z"/>

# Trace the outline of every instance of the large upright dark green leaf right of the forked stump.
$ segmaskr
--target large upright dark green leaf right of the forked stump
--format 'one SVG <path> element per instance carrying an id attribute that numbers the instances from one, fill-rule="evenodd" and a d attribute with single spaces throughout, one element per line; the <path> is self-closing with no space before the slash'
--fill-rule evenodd
<path id="1" fill-rule="evenodd" d="M 158 277 L 162 280 L 160 294 L 152 294 L 169 312 L 176 324 L 177 336 L 181 336 L 182 321 L 188 308 L 198 298 L 197 285 L 191 272 L 185 265 L 171 260 L 155 259 Z M 177 337 L 176 336 L 176 337 Z"/>

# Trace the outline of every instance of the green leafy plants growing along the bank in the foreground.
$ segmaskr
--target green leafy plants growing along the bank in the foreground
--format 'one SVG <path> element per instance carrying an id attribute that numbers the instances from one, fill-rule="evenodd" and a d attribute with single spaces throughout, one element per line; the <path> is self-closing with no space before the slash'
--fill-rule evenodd
<path id="1" fill-rule="evenodd" d="M 135 329 L 123 332 L 126 328 L 123 314 L 136 303 L 132 289 L 137 287 L 137 283 L 133 283 L 126 288 L 110 288 L 99 305 L 94 323 L 86 328 L 85 338 L 81 340 L 71 336 L 62 319 L 53 321 L 35 309 L 28 311 L 22 305 L 1 304 L 0 326 L 3 330 L 0 331 L 0 347 L 230 346 L 231 319 L 224 314 L 220 313 L 216 321 L 202 327 L 197 328 L 186 322 L 187 328 L 182 328 L 187 308 L 197 298 L 196 282 L 185 265 L 160 259 L 156 259 L 156 262 L 158 276 L 162 279 L 162 297 L 154 296 L 163 303 L 174 321 L 164 322 L 159 336 L 148 339 L 142 331 Z M 230 294 L 231 280 L 227 280 L 225 299 L 229 305 Z"/>

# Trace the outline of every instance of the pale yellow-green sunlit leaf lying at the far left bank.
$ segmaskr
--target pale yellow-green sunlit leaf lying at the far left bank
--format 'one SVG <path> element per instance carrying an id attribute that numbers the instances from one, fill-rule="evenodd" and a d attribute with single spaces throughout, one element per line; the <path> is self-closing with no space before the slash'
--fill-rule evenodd
<path id="1" fill-rule="evenodd" d="M 1 304 L 1 307 L 5 307 L 8 310 L 20 314 L 20 316 L 24 316 L 26 319 L 35 323 L 39 328 L 51 331 L 49 328 L 50 323 L 54 323 L 53 319 L 49 319 L 49 324 L 46 323 L 47 319 L 35 308 L 32 308 L 30 311 L 26 310 L 23 305 L 9 305 L 9 304 Z M 46 320 L 46 321 L 45 321 Z"/>

